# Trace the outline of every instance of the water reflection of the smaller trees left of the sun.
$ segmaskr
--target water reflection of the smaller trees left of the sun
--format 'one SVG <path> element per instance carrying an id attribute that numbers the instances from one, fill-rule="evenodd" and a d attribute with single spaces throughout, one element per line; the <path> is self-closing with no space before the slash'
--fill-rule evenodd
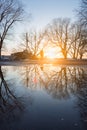
<path id="1" fill-rule="evenodd" d="M 38 86 L 47 86 L 49 74 L 43 70 L 43 66 L 25 66 L 19 73 L 21 80 L 26 87 L 35 89 Z"/>

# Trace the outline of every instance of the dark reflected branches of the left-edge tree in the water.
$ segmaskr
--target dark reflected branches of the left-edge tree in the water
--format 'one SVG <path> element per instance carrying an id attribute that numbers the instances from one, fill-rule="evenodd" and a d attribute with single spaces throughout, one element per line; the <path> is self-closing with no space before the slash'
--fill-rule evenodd
<path id="1" fill-rule="evenodd" d="M 9 89 L 9 86 L 4 79 L 3 72 L 0 66 L 0 109 L 3 112 L 6 112 L 6 108 L 9 110 L 18 107 L 22 110 L 22 104 L 18 101 L 13 92 Z M 5 107 L 4 107 L 5 106 Z"/>

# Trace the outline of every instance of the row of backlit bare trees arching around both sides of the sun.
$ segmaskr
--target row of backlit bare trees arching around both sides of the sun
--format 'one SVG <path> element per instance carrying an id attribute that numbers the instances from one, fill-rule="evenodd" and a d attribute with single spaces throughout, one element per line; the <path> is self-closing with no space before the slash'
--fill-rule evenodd
<path id="1" fill-rule="evenodd" d="M 66 59 L 82 59 L 87 55 L 87 29 L 76 21 L 70 22 L 69 18 L 56 18 L 40 33 L 25 32 L 21 47 L 24 47 L 37 56 L 47 45 L 58 48 L 58 53 Z"/>

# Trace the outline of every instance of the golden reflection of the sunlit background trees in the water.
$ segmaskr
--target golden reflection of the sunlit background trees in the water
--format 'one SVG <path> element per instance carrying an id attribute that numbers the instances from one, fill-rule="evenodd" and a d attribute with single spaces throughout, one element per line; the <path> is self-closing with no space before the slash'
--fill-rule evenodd
<path id="1" fill-rule="evenodd" d="M 29 88 L 43 87 L 55 98 L 68 98 L 86 81 L 86 71 L 80 67 L 25 66 L 20 72 L 22 82 Z M 52 68 L 52 69 L 50 69 Z"/>

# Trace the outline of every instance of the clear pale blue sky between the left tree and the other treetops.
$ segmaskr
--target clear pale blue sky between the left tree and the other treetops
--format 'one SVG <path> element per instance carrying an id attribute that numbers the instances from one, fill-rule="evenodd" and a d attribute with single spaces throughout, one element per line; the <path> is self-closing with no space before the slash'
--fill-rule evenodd
<path id="1" fill-rule="evenodd" d="M 21 33 L 31 29 L 42 30 L 54 18 L 69 17 L 72 21 L 76 19 L 75 10 L 78 9 L 80 0 L 20 0 L 28 16 L 26 22 L 18 24 L 13 29 L 15 36 L 8 44 L 8 48 L 14 48 L 18 44 Z M 10 43 L 10 42 L 9 42 Z M 9 51 L 8 51 L 9 52 Z"/>

